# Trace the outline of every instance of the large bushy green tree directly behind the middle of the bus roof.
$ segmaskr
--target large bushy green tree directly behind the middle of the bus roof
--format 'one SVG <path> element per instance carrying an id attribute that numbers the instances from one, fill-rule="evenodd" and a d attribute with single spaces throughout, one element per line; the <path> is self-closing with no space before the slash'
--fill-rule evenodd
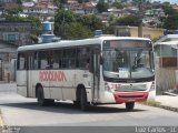
<path id="1" fill-rule="evenodd" d="M 80 16 L 66 10 L 59 10 L 55 16 L 55 34 L 62 39 L 90 38 L 92 32 Z"/>

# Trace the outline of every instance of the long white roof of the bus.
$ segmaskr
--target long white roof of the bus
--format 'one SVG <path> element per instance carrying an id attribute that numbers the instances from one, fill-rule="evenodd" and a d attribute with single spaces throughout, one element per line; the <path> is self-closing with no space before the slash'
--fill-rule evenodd
<path id="1" fill-rule="evenodd" d="M 83 40 L 61 40 L 59 42 L 50 42 L 50 43 L 41 43 L 41 44 L 32 44 L 32 45 L 23 45 L 19 47 L 18 51 L 30 51 L 30 50 L 42 50 L 42 49 L 55 49 L 55 48 L 65 48 L 65 47 L 81 47 L 88 44 L 99 44 L 102 43 L 103 40 L 147 40 L 146 38 L 132 38 L 132 37 L 99 37 Z"/>

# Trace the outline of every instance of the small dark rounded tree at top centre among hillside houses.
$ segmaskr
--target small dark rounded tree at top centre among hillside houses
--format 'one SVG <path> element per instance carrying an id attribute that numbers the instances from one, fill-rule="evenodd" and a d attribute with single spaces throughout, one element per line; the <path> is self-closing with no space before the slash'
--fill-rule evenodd
<path id="1" fill-rule="evenodd" d="M 109 4 L 106 3 L 103 0 L 99 0 L 99 2 L 96 6 L 98 12 L 105 12 L 108 11 Z"/>

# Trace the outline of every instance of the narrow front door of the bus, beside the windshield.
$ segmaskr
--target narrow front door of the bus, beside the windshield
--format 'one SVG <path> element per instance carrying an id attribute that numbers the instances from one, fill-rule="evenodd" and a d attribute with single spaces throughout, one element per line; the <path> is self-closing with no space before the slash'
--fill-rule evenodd
<path id="1" fill-rule="evenodd" d="M 95 50 L 92 54 L 92 102 L 97 102 L 99 99 L 99 76 L 100 76 L 100 63 L 99 63 L 100 54 L 99 50 Z"/>

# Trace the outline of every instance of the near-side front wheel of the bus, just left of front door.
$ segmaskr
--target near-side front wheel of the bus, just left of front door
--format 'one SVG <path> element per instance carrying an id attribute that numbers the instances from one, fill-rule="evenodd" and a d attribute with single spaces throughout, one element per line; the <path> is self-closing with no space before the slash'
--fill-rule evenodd
<path id="1" fill-rule="evenodd" d="M 85 89 L 80 90 L 80 109 L 87 111 L 89 109 L 89 102 L 87 102 L 87 93 Z"/>

